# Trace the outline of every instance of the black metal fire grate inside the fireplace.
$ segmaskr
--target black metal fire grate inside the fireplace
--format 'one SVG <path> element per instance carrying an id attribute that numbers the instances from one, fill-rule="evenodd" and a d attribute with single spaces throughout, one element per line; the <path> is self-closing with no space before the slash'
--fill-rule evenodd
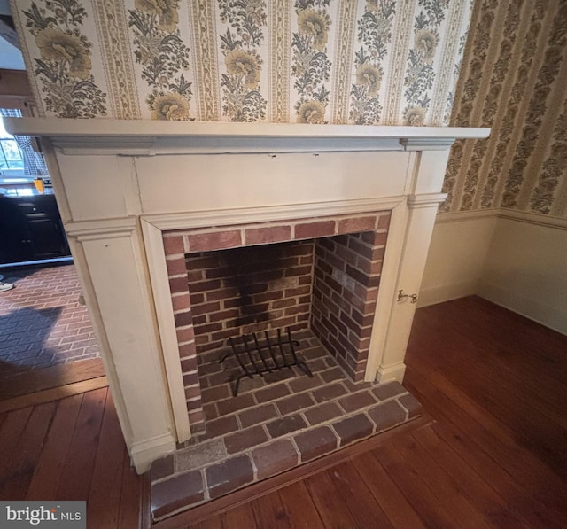
<path id="1" fill-rule="evenodd" d="M 299 346 L 297 340 L 291 339 L 289 327 L 285 328 L 286 337 L 282 336 L 282 330 L 277 330 L 277 338 L 269 338 L 268 331 L 264 332 L 264 338 L 258 338 L 257 334 L 245 334 L 236 340 L 229 338 L 232 349 L 222 356 L 219 362 L 224 362 L 229 357 L 235 357 L 242 373 L 234 380 L 232 394 L 238 394 L 238 385 L 244 377 L 252 378 L 255 375 L 263 376 L 276 370 L 291 369 L 298 366 L 309 377 L 313 374 L 306 363 L 299 360 L 295 347 Z M 276 340 L 276 341 L 274 341 Z"/>

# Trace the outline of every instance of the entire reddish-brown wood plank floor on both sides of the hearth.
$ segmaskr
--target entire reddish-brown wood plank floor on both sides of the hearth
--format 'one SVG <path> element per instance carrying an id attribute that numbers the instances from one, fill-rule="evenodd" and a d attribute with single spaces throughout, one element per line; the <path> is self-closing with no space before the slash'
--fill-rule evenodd
<path id="1" fill-rule="evenodd" d="M 567 337 L 473 297 L 419 309 L 407 363 L 431 424 L 159 527 L 567 526 Z M 105 389 L 0 415 L 0 447 L 0 499 L 87 499 L 89 528 L 139 525 Z"/>

